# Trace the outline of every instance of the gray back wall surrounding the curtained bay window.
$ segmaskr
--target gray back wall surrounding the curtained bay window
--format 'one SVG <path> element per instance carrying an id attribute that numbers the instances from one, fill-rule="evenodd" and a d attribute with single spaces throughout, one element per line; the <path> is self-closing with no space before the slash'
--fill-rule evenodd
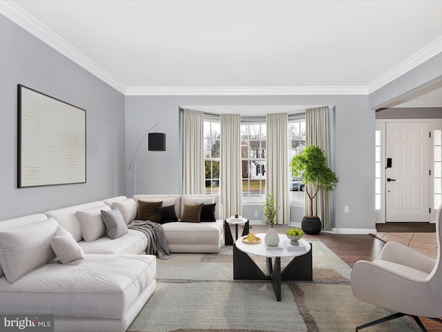
<path id="1" fill-rule="evenodd" d="M 373 229 L 375 112 L 367 95 L 294 96 L 126 96 L 126 167 L 144 133 L 158 124 L 167 151 L 137 154 L 137 193 L 180 193 L 179 107 L 184 105 L 335 105 L 334 227 Z M 126 195 L 134 193 L 133 169 L 126 168 Z M 349 205 L 350 213 L 344 213 Z M 247 208 L 247 211 L 257 210 Z M 250 219 L 256 219 L 249 216 Z"/>

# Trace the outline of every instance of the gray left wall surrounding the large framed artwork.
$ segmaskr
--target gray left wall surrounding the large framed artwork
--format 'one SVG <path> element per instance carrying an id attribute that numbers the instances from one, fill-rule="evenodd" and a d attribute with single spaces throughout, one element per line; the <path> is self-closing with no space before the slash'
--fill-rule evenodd
<path id="1" fill-rule="evenodd" d="M 124 194 L 124 95 L 0 15 L 0 220 Z M 86 183 L 17 188 L 17 84 L 86 109 Z"/>

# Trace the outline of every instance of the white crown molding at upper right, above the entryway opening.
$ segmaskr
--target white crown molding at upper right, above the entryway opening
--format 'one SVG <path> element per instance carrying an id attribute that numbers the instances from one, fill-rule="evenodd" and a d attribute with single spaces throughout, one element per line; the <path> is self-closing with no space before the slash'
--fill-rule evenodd
<path id="1" fill-rule="evenodd" d="M 398 66 L 394 67 L 391 71 L 387 72 L 385 75 L 379 77 L 377 80 L 369 84 L 367 86 L 368 93 L 372 93 L 377 89 L 380 89 L 381 87 L 396 80 L 396 78 L 407 73 L 408 71 L 411 71 L 413 68 L 416 68 L 420 64 L 423 64 L 423 62 L 427 61 L 428 59 L 431 59 L 432 57 L 438 55 L 441 52 L 442 52 L 442 37 L 439 37 L 439 39 L 436 39 L 434 42 L 432 42 L 432 44 L 426 46 L 422 50 L 419 50 L 418 53 L 412 55 L 412 57 L 409 57 Z"/>

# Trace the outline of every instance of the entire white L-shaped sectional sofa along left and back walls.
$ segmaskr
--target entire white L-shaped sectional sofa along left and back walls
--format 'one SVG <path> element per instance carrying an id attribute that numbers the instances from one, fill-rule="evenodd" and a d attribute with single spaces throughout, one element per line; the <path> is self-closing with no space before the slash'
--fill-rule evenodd
<path id="1" fill-rule="evenodd" d="M 0 313 L 53 314 L 55 331 L 126 331 L 155 291 L 156 257 L 144 255 L 147 239 L 137 230 L 116 239 L 94 237 L 103 232 L 102 211 L 118 209 L 127 224 L 137 218 L 140 201 L 174 205 L 177 218 L 186 205 L 215 203 L 213 222 L 175 221 L 163 228 L 171 252 L 219 252 L 217 195 L 117 196 L 0 221 Z M 62 251 L 51 246 L 60 238 Z"/>

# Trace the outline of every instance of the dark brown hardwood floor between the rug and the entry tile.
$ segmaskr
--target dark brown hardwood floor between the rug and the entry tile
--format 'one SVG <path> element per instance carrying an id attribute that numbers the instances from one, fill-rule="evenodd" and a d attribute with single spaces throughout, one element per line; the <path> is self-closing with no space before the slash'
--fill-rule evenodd
<path id="1" fill-rule="evenodd" d="M 268 225 L 253 225 L 251 232 L 264 233 L 267 232 Z M 289 226 L 275 225 L 278 233 L 285 233 Z M 232 234 L 234 233 L 232 228 Z M 242 228 L 238 229 L 241 234 Z M 304 239 L 319 239 L 325 246 L 332 250 L 340 259 L 345 261 L 350 267 L 360 259 L 372 261 L 379 257 L 385 242 L 370 235 L 353 235 L 353 234 L 332 234 L 320 232 L 317 235 L 305 234 Z M 420 317 L 428 332 L 442 331 L 442 325 L 434 320 Z"/>

